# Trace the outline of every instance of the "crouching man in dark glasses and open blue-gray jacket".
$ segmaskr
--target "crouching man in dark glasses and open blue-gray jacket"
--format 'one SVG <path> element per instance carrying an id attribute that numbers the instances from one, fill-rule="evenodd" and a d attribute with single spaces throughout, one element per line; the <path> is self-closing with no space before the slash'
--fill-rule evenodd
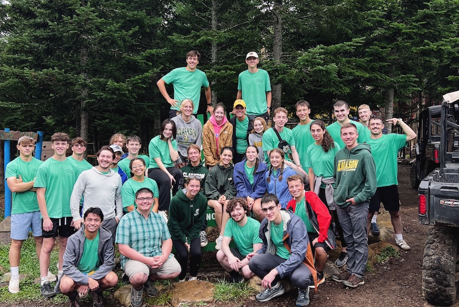
<path id="1" fill-rule="evenodd" d="M 265 302 L 284 294 L 279 279 L 288 278 L 298 288 L 297 306 L 308 305 L 309 286 L 315 284 L 314 259 L 309 246 L 308 232 L 304 222 L 293 212 L 281 209 L 274 194 L 266 194 L 261 201 L 265 218 L 261 222 L 259 236 L 263 246 L 247 255 L 250 270 L 262 278 L 266 288 L 257 294 L 258 301 Z M 315 279 L 315 278 L 314 278 Z"/>

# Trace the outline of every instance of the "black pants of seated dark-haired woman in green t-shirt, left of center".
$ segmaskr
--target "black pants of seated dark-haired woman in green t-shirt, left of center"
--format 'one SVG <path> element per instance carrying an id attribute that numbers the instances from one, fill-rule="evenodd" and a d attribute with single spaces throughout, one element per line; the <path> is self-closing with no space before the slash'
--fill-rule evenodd
<path id="1" fill-rule="evenodd" d="M 176 167 L 167 167 L 167 171 L 174 176 L 175 183 L 172 188 L 172 196 L 183 186 L 182 171 Z M 169 210 L 170 204 L 170 178 L 160 168 L 148 169 L 148 177 L 158 184 L 159 210 Z M 157 195 L 155 195 L 157 197 Z"/>

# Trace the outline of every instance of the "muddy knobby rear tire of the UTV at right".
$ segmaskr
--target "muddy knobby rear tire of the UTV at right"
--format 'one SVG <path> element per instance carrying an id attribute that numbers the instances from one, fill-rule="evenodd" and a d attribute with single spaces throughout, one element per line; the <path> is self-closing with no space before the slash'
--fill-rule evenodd
<path id="1" fill-rule="evenodd" d="M 456 300 L 457 235 L 457 229 L 448 226 L 432 226 L 427 233 L 422 295 L 431 304 L 451 305 Z"/>

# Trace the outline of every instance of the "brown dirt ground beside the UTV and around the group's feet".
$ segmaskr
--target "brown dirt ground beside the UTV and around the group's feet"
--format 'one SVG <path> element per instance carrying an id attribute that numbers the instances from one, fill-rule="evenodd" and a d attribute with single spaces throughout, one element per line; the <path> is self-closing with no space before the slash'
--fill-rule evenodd
<path id="1" fill-rule="evenodd" d="M 410 185 L 410 168 L 399 167 L 399 194 L 403 237 L 411 246 L 410 251 L 401 251 L 399 259 L 391 259 L 383 265 L 376 265 L 374 273 L 366 273 L 365 285 L 354 290 L 345 290 L 333 280 L 326 280 L 319 286 L 319 292 L 311 295 L 310 306 L 314 307 L 413 307 L 432 306 L 422 297 L 421 270 L 425 235 L 428 227 L 417 219 L 418 194 Z M 394 238 L 390 240 L 395 243 Z M 223 278 L 222 269 L 215 260 L 216 252 L 203 253 L 203 263 L 199 279 Z M 212 303 L 208 307 L 286 307 L 294 306 L 297 291 L 260 303 L 254 298 L 241 303 Z M 37 303 L 16 304 L 14 306 L 36 306 Z M 0 307 L 7 306 L 0 302 Z M 8 306 L 11 306 L 8 304 Z M 119 306 L 117 304 L 116 306 Z M 454 307 L 459 307 L 456 302 Z"/>

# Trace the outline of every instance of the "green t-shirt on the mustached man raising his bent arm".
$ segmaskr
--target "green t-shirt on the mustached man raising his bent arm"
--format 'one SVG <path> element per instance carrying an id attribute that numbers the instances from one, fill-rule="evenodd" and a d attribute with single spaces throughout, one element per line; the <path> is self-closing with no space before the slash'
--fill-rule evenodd
<path id="1" fill-rule="evenodd" d="M 371 155 L 376 166 L 377 187 L 398 185 L 398 151 L 406 146 L 406 135 L 383 134 L 379 139 L 370 139 Z"/>

